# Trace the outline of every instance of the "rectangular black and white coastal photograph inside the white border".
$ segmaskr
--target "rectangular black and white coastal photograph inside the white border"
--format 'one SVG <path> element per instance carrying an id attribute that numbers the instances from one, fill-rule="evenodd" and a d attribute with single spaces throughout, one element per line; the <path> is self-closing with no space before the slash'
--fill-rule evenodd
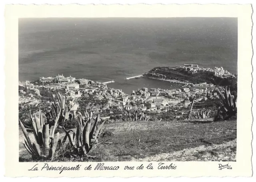
<path id="1" fill-rule="evenodd" d="M 19 18 L 19 162 L 236 161 L 238 77 L 238 18 Z"/>

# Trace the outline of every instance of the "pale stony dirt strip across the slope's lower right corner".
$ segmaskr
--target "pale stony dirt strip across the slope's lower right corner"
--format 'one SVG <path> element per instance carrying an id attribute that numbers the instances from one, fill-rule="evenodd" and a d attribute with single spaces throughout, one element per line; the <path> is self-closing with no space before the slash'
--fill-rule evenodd
<path id="1" fill-rule="evenodd" d="M 146 158 L 132 158 L 132 161 L 236 161 L 236 140 Z"/>

